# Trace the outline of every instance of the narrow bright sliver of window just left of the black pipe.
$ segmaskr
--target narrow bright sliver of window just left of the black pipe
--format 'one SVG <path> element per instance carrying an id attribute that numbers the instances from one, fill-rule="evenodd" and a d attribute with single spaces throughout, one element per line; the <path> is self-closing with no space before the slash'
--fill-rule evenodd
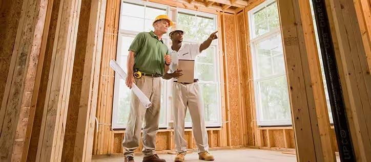
<path id="1" fill-rule="evenodd" d="M 319 37 L 318 37 L 318 32 L 317 32 L 317 24 L 316 24 L 316 18 L 314 17 L 314 9 L 313 9 L 313 3 L 312 1 L 309 1 L 311 4 L 311 11 L 312 11 L 312 18 L 313 18 L 313 27 L 314 27 L 314 33 L 316 35 L 316 42 L 317 42 L 317 50 L 318 50 L 318 57 L 319 57 L 319 62 L 321 66 L 321 74 L 322 74 L 322 80 L 323 80 L 323 89 L 325 92 L 326 96 L 326 104 L 327 104 L 327 112 L 328 112 L 328 118 L 331 124 L 334 124 L 334 119 L 333 119 L 333 114 L 331 110 L 331 105 L 330 105 L 330 98 L 328 97 L 328 91 L 327 91 L 327 84 L 326 84 L 326 77 L 324 74 L 324 68 L 323 68 L 323 61 L 322 61 L 322 55 L 321 55 L 321 49 L 319 46 Z"/>

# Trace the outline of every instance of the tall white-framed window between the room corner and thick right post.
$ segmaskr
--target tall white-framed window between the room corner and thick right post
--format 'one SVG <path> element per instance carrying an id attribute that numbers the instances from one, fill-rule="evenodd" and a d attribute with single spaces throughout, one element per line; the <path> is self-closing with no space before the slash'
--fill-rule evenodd
<path id="1" fill-rule="evenodd" d="M 291 125 L 286 70 L 275 1 L 249 11 L 256 116 L 259 126 Z"/>

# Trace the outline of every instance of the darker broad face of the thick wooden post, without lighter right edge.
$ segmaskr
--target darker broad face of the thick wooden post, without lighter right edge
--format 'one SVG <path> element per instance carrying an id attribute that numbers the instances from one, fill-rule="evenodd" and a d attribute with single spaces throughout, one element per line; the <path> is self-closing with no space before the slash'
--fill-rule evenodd
<path id="1" fill-rule="evenodd" d="M 281 33 L 286 64 L 286 74 L 291 101 L 292 121 L 294 126 L 296 152 L 298 161 L 325 161 L 321 144 L 320 130 L 317 120 L 314 91 L 312 87 L 313 73 L 308 63 L 308 53 L 303 31 L 303 19 L 300 13 L 299 0 L 279 0 Z M 319 67 L 318 67 L 319 68 Z"/>

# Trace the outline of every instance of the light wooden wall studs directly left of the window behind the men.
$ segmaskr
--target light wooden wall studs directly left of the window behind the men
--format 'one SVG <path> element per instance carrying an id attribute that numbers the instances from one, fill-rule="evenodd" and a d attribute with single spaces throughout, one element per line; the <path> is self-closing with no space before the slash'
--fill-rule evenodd
<path id="1" fill-rule="evenodd" d="M 93 154 L 113 152 L 114 133 L 111 131 L 111 118 L 114 71 L 109 62 L 116 58 L 119 11 L 119 0 L 107 1 L 96 111 L 99 128 L 98 133 L 94 135 Z"/>

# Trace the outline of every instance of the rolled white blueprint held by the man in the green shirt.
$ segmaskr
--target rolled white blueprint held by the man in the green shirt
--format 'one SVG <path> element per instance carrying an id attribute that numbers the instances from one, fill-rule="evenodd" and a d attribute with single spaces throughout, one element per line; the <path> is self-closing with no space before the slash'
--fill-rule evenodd
<path id="1" fill-rule="evenodd" d="M 128 76 L 118 65 L 118 63 L 115 60 L 110 61 L 110 66 L 113 68 L 113 70 L 118 74 L 123 80 L 126 80 L 126 77 Z M 140 103 L 145 106 L 146 108 L 151 107 L 152 103 L 150 102 L 150 99 L 147 98 L 145 94 L 133 83 L 131 90 L 134 92 L 135 96 L 138 97 Z"/>

